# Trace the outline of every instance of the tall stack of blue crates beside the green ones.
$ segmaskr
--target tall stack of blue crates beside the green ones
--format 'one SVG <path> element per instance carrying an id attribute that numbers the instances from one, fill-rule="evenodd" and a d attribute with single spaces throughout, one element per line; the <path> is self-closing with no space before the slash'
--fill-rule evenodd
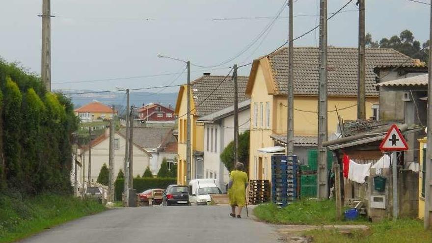
<path id="1" fill-rule="evenodd" d="M 297 156 L 271 156 L 271 197 L 279 207 L 297 199 Z"/>

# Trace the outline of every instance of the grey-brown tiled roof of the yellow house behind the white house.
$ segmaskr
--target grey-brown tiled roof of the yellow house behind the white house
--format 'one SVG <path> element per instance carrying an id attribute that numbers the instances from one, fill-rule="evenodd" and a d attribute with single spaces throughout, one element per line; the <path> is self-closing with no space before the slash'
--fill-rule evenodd
<path id="1" fill-rule="evenodd" d="M 198 115 L 207 115 L 217 110 L 232 106 L 234 103 L 234 83 L 232 76 L 202 76 L 191 82 L 192 96 Z M 222 82 L 223 81 L 223 82 Z M 248 77 L 238 76 L 239 102 L 248 98 L 245 96 Z M 222 84 L 215 88 L 222 82 Z"/>

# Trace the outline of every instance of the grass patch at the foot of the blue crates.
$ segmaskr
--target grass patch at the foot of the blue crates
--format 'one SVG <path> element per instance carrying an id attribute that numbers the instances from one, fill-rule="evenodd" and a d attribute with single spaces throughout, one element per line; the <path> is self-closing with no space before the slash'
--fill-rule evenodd
<path id="1" fill-rule="evenodd" d="M 278 209 L 274 204 L 262 204 L 253 210 L 254 215 L 269 223 L 275 224 L 358 224 L 366 219 L 359 217 L 355 221 L 336 219 L 335 202 L 332 200 L 301 200 Z"/>

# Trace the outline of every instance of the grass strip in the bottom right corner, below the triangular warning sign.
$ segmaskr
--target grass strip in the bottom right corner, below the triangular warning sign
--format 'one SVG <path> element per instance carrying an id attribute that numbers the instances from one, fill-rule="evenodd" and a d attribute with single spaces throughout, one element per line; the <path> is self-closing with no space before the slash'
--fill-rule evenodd
<path id="1" fill-rule="evenodd" d="M 314 230 L 303 233 L 313 243 L 423 243 L 432 242 L 432 231 L 423 229 L 418 219 L 383 220 L 370 224 L 367 232 L 343 234 L 336 230 Z"/>

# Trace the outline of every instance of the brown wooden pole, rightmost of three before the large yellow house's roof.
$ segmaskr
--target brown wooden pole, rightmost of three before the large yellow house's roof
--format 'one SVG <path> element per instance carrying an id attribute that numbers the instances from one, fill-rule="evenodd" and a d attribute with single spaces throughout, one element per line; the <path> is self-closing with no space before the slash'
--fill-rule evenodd
<path id="1" fill-rule="evenodd" d="M 366 120 L 365 0 L 358 0 L 357 119 Z"/>

